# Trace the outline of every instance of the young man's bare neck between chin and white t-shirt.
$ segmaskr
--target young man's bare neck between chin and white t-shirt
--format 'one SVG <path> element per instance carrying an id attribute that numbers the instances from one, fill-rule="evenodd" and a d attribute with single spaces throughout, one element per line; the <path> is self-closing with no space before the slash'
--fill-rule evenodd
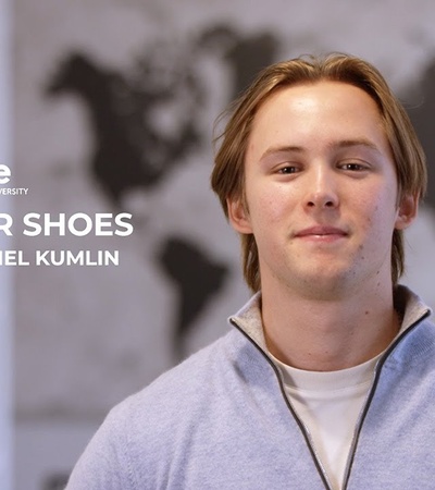
<path id="1" fill-rule="evenodd" d="M 327 301 L 268 293 L 262 292 L 268 347 L 299 369 L 333 371 L 357 366 L 383 352 L 399 330 L 393 289 Z"/>

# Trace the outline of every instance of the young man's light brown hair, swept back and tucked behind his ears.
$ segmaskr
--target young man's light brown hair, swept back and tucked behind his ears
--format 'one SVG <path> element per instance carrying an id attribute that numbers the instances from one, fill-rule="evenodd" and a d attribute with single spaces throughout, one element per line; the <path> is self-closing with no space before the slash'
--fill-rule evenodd
<path id="1" fill-rule="evenodd" d="M 380 72 L 355 57 L 332 54 L 276 63 L 265 69 L 235 103 L 215 157 L 212 187 L 225 215 L 228 203 L 245 203 L 245 163 L 249 137 L 259 109 L 275 93 L 291 86 L 319 82 L 341 82 L 365 91 L 376 103 L 390 146 L 398 183 L 398 203 L 406 195 L 418 199 L 425 192 L 424 154 L 409 118 Z M 254 236 L 241 234 L 245 279 L 252 291 L 260 290 L 259 256 Z M 402 232 L 395 230 L 391 243 L 391 277 L 396 283 L 403 270 Z"/>

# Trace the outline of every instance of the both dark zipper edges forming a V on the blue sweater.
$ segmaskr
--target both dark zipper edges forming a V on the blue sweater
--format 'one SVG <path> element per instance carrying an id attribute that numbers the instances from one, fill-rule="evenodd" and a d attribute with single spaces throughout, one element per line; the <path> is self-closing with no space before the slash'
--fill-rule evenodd
<path id="1" fill-rule="evenodd" d="M 431 315 L 431 311 L 428 309 L 426 309 L 418 320 L 415 320 L 413 323 L 411 323 L 410 327 L 407 328 L 407 330 L 399 335 L 393 343 L 385 351 L 384 355 L 381 357 L 381 359 L 378 360 L 375 371 L 374 371 L 374 377 L 373 377 L 373 383 L 372 387 L 369 391 L 365 404 L 360 413 L 360 416 L 358 418 L 357 421 L 357 426 L 356 426 L 356 430 L 353 433 L 353 438 L 352 438 L 352 443 L 350 445 L 350 450 L 349 450 L 349 455 L 347 458 L 347 464 L 346 464 L 346 470 L 345 470 L 345 477 L 343 479 L 343 486 L 341 486 L 341 490 L 347 490 L 347 486 L 349 483 L 349 478 L 350 478 L 350 473 L 352 469 L 352 465 L 353 465 L 353 460 L 355 460 L 355 454 L 357 452 L 357 446 L 358 446 L 358 441 L 359 441 L 359 437 L 362 430 L 362 426 L 364 424 L 365 420 L 365 416 L 369 412 L 370 405 L 372 403 L 372 400 L 374 397 L 374 393 L 376 391 L 377 388 L 377 383 L 381 377 L 381 371 L 382 368 L 385 365 L 385 362 L 387 360 L 387 358 L 389 357 L 389 355 L 393 353 L 393 351 L 397 347 L 397 345 L 408 335 L 408 333 L 410 333 L 421 321 L 423 321 L 425 318 L 427 318 Z M 284 397 L 284 401 L 289 409 L 289 412 L 291 413 L 294 419 L 296 420 L 297 425 L 299 426 L 299 429 L 303 436 L 303 439 L 306 440 L 307 446 L 311 453 L 311 457 L 313 458 L 314 465 L 318 469 L 318 473 L 322 479 L 322 482 L 325 487 L 326 490 L 333 490 L 333 488 L 331 487 L 331 482 L 328 479 L 328 476 L 325 471 L 325 468 L 319 457 L 318 452 L 315 451 L 310 431 L 308 429 L 308 427 L 303 424 L 303 421 L 299 418 L 299 416 L 297 415 L 295 408 L 293 407 L 290 401 L 288 400 L 288 396 L 286 395 L 285 392 L 285 388 L 284 388 L 284 383 L 283 383 L 283 379 L 281 376 L 281 372 L 278 370 L 278 368 L 275 366 L 275 364 L 272 362 L 272 359 L 268 356 L 268 354 L 264 352 L 264 350 L 251 338 L 248 335 L 248 333 L 245 332 L 245 330 L 238 326 L 238 323 L 231 318 L 229 319 L 231 323 L 240 332 L 243 333 L 251 344 L 253 344 L 257 350 L 261 353 L 261 355 L 266 359 L 266 362 L 270 364 L 270 366 L 272 367 L 273 371 L 275 372 L 275 376 L 278 380 L 278 385 L 279 385 L 279 390 L 281 390 L 281 394 Z"/>

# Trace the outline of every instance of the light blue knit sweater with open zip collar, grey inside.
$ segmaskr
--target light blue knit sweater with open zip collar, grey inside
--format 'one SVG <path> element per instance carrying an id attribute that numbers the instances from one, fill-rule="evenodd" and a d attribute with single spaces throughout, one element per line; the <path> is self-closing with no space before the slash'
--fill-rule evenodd
<path id="1" fill-rule="evenodd" d="M 435 489 L 435 327 L 403 286 L 406 330 L 377 364 L 346 490 Z M 113 408 L 67 490 L 324 490 L 310 436 L 266 355 L 259 296 L 236 327 Z"/>

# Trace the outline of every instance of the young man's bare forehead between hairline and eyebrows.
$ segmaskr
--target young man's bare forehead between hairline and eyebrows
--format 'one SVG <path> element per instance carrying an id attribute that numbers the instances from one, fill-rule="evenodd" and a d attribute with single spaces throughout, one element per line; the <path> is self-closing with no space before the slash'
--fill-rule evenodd
<path id="1" fill-rule="evenodd" d="M 384 152 L 389 147 L 376 102 L 364 90 L 341 82 L 279 89 L 257 112 L 248 139 L 248 152 L 261 155 L 303 152 L 315 145 Z"/>

